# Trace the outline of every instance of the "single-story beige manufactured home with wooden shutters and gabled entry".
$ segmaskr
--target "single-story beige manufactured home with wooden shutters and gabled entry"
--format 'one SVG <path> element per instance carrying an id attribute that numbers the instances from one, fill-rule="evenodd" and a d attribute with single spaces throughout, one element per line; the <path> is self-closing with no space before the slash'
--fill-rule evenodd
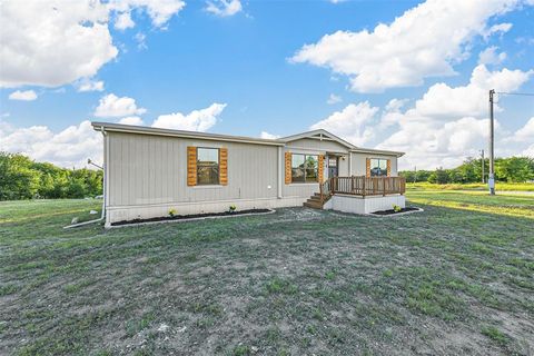
<path id="1" fill-rule="evenodd" d="M 167 216 L 169 209 L 189 215 L 306 201 L 336 208 L 328 198 L 334 192 L 342 198 L 347 179 L 346 192 L 357 192 L 359 200 L 390 196 L 404 206 L 404 191 L 392 189 L 398 182 L 374 178 L 396 177 L 403 152 L 359 148 L 326 130 L 260 139 L 107 122 L 92 127 L 103 135 L 107 226 Z M 390 208 L 397 200 L 384 204 Z"/>

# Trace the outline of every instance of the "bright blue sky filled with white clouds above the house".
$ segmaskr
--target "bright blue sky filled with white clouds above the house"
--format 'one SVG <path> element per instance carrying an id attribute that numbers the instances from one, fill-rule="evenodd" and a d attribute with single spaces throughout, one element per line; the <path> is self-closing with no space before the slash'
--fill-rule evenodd
<path id="1" fill-rule="evenodd" d="M 449 168 L 486 149 L 490 89 L 534 93 L 534 0 L 0 0 L 0 150 L 69 168 L 102 160 L 90 121 L 323 128 Z M 498 157 L 534 157 L 534 96 L 495 119 Z"/>

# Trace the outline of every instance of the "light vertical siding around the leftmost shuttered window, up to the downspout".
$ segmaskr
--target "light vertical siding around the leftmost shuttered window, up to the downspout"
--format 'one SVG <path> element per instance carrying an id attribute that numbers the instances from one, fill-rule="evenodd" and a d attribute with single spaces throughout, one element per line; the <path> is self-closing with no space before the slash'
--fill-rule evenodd
<path id="1" fill-rule="evenodd" d="M 108 132 L 110 205 L 276 198 L 276 146 Z M 187 147 L 227 147 L 227 186 L 187 186 Z M 270 186 L 270 189 L 268 188 Z"/>

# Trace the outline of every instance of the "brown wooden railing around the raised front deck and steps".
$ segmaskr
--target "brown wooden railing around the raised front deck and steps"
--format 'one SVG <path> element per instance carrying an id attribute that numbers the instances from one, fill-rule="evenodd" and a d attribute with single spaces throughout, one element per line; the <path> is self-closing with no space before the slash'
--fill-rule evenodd
<path id="1" fill-rule="evenodd" d="M 326 201 L 334 194 L 355 196 L 385 196 L 389 194 L 405 194 L 406 179 L 403 177 L 333 177 L 319 184 L 322 201 Z"/>

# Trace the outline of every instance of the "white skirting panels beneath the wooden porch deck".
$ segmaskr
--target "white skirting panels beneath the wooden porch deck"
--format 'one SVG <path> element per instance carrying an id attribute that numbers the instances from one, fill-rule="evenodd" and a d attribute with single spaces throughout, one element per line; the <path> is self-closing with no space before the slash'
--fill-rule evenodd
<path id="1" fill-rule="evenodd" d="M 353 214 L 370 214 L 380 210 L 393 209 L 394 205 L 404 208 L 406 198 L 402 195 L 388 196 L 353 196 L 353 195 L 334 195 L 323 207 L 328 210 L 337 210 Z"/>

